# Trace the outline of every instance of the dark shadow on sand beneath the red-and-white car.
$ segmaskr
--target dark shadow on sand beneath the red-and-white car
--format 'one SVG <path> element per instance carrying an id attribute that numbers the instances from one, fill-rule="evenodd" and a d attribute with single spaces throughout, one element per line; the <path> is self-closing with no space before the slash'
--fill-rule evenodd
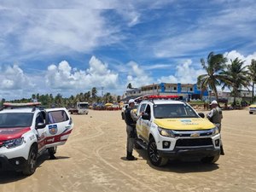
<path id="1" fill-rule="evenodd" d="M 63 160 L 68 159 L 69 157 L 66 156 L 55 156 L 54 160 Z M 46 151 L 38 157 L 37 160 L 37 168 L 42 167 L 45 160 L 51 160 L 49 157 L 49 153 Z M 36 170 L 37 172 L 37 170 Z M 0 184 L 4 183 L 12 183 L 21 179 L 26 178 L 27 176 L 23 175 L 22 172 L 15 172 L 15 171 L 0 171 Z"/>

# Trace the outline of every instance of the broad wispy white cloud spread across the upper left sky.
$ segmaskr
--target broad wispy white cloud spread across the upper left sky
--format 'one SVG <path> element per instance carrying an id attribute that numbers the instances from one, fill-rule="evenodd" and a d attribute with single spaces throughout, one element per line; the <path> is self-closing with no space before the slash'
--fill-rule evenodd
<path id="1" fill-rule="evenodd" d="M 118 28 L 108 26 L 101 9 L 8 9 L 2 12 L 2 60 L 90 53 L 98 46 L 119 41 Z"/>

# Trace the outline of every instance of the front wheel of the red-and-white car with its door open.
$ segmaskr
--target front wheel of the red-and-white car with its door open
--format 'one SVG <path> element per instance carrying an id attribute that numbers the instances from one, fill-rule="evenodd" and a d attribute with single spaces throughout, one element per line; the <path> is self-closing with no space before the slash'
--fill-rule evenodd
<path id="1" fill-rule="evenodd" d="M 30 148 L 28 159 L 26 162 L 26 167 L 23 170 L 23 174 L 26 176 L 32 175 L 37 168 L 38 150 L 35 146 Z"/>

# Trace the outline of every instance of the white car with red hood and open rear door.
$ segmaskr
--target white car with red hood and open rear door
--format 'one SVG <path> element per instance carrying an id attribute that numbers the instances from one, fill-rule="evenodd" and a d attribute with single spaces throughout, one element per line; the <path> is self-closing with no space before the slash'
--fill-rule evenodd
<path id="1" fill-rule="evenodd" d="M 40 102 L 4 103 L 0 110 L 0 170 L 32 175 L 38 155 L 54 155 L 67 142 L 73 121 L 66 108 L 40 109 Z"/>

